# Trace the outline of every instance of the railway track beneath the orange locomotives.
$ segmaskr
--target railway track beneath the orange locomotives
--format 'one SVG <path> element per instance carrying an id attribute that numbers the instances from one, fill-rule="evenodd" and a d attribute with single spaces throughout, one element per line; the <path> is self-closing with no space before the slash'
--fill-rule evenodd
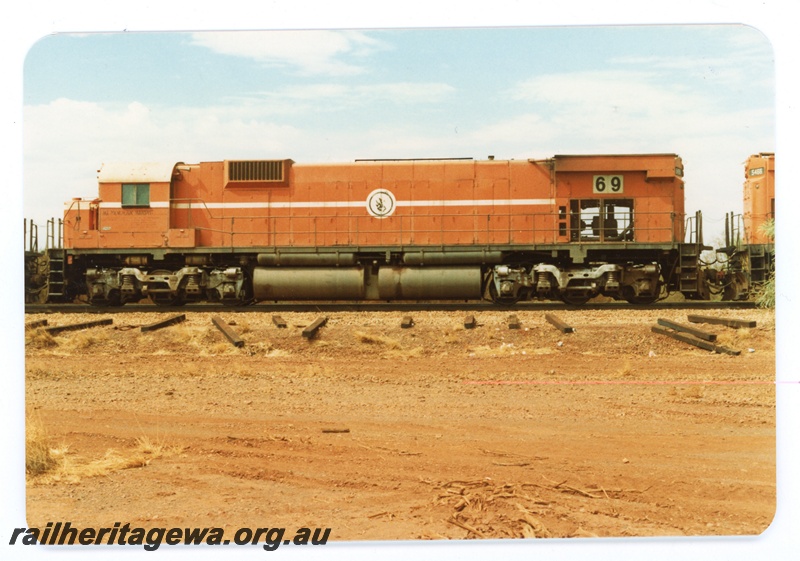
<path id="1" fill-rule="evenodd" d="M 413 312 L 413 311 L 551 311 L 551 310 L 726 310 L 753 309 L 755 302 L 656 302 L 636 306 L 627 302 L 597 302 L 574 306 L 562 302 L 531 302 L 502 306 L 490 302 L 283 302 L 259 303 L 250 306 L 222 306 L 219 304 L 187 304 L 184 306 L 156 306 L 154 304 L 128 304 L 126 306 L 90 306 L 88 304 L 28 304 L 26 314 L 81 313 L 114 314 L 136 312 Z"/>

